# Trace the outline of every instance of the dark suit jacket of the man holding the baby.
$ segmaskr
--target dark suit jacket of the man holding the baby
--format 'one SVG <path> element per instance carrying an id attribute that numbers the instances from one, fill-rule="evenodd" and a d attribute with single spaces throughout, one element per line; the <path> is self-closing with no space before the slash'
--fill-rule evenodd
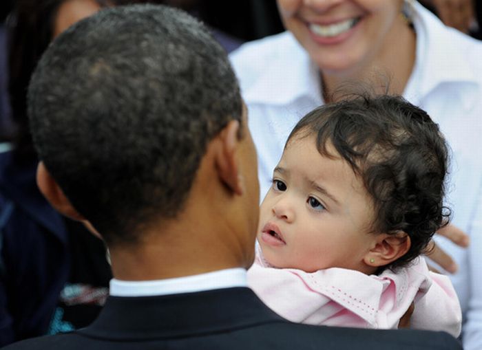
<path id="1" fill-rule="evenodd" d="M 19 349 L 462 349 L 447 333 L 297 325 L 268 309 L 248 288 L 107 299 L 85 329 L 24 340 Z"/>

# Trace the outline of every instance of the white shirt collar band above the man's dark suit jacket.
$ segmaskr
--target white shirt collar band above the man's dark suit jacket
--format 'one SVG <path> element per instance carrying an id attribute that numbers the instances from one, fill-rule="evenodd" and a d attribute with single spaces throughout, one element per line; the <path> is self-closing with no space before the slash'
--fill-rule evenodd
<path id="1" fill-rule="evenodd" d="M 112 296 L 161 296 L 202 292 L 211 289 L 247 287 L 246 270 L 233 268 L 178 278 L 154 281 L 110 281 Z"/>

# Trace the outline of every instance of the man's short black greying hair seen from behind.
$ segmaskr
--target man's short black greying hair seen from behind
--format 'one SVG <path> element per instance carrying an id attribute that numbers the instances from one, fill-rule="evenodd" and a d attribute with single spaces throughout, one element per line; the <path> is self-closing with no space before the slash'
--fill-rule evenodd
<path id="1" fill-rule="evenodd" d="M 101 10 L 46 50 L 28 91 L 36 150 L 107 243 L 182 210 L 242 99 L 227 54 L 181 10 Z"/>

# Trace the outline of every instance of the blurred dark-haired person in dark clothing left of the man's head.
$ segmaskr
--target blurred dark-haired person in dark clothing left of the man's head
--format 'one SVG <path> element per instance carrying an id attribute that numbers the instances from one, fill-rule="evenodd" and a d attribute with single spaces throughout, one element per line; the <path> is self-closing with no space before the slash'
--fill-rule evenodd
<path id="1" fill-rule="evenodd" d="M 19 0 L 8 19 L 12 150 L 0 153 L 0 346 L 89 325 L 112 278 L 103 241 L 59 215 L 36 186 L 26 91 L 55 36 L 112 1 Z M 75 82 L 72 82 L 74 84 Z"/>

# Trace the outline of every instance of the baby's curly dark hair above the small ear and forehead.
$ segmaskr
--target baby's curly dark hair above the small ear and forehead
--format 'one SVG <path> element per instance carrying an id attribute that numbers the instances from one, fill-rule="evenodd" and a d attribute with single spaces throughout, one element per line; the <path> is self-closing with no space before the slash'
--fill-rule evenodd
<path id="1" fill-rule="evenodd" d="M 427 248 L 432 235 L 448 224 L 443 206 L 448 146 L 430 116 L 400 96 L 351 96 L 318 107 L 291 131 L 316 136 L 321 155 L 333 144 L 373 198 L 373 233 L 406 232 L 410 249 L 382 267 L 408 264 Z M 379 271 L 381 272 L 381 271 Z"/>

